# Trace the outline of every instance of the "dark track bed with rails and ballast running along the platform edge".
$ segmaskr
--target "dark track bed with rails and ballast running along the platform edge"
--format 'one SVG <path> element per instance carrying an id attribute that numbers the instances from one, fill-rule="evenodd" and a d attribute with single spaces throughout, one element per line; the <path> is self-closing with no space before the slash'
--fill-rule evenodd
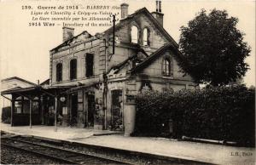
<path id="1" fill-rule="evenodd" d="M 27 153 L 33 152 L 34 154 L 32 155 L 36 156 L 37 154 L 42 159 L 46 159 L 46 161 L 66 164 L 210 164 L 198 162 L 194 159 L 158 156 L 76 141 L 9 134 L 3 131 L 1 131 L 1 134 L 2 144 L 12 145 L 9 147 L 17 147 L 17 150 L 26 150 L 25 152 Z"/>

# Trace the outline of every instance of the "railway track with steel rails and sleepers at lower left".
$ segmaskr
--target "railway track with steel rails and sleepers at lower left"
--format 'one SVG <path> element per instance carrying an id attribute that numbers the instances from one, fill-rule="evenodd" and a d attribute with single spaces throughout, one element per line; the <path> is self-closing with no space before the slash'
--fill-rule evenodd
<path id="1" fill-rule="evenodd" d="M 102 156 L 92 156 L 78 151 L 61 149 L 55 146 L 43 145 L 22 139 L 5 137 L 1 145 L 15 148 L 15 150 L 26 151 L 38 156 L 44 156 L 51 160 L 69 164 L 127 164 Z M 4 162 L 1 162 L 4 164 Z"/>

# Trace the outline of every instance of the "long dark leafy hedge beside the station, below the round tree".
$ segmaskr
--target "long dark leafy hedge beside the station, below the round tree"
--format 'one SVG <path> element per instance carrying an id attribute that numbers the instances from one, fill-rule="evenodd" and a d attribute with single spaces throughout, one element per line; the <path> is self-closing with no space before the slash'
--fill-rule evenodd
<path id="1" fill-rule="evenodd" d="M 182 135 L 254 145 L 255 89 L 209 87 L 137 95 L 136 135 Z M 173 122 L 170 134 L 169 121 Z"/>

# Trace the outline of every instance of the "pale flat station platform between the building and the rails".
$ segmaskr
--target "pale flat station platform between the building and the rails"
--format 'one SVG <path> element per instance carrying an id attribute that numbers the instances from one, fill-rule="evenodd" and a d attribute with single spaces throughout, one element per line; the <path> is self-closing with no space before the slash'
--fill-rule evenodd
<path id="1" fill-rule="evenodd" d="M 1 130 L 15 134 L 101 145 L 213 164 L 255 164 L 255 148 L 212 145 L 163 138 L 125 137 L 117 132 L 85 128 L 58 128 L 55 131 L 52 126 L 10 127 L 9 124 L 1 123 Z M 94 134 L 101 134 L 101 136 L 95 136 Z"/>

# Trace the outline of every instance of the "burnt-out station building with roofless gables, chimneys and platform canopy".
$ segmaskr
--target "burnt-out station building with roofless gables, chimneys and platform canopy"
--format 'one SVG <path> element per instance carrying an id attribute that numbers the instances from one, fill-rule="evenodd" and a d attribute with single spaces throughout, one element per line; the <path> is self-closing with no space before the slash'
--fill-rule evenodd
<path id="1" fill-rule="evenodd" d="M 163 28 L 160 3 L 153 13 L 143 8 L 128 14 L 128 7 L 121 4 L 121 20 L 114 29 L 94 36 L 88 31 L 73 36 L 73 28 L 63 27 L 63 43 L 49 51 L 49 83 L 2 94 L 13 94 L 13 102 L 15 97 L 40 100 L 41 124 L 130 134 L 135 95 L 197 84 L 178 65 L 182 54 Z"/>

